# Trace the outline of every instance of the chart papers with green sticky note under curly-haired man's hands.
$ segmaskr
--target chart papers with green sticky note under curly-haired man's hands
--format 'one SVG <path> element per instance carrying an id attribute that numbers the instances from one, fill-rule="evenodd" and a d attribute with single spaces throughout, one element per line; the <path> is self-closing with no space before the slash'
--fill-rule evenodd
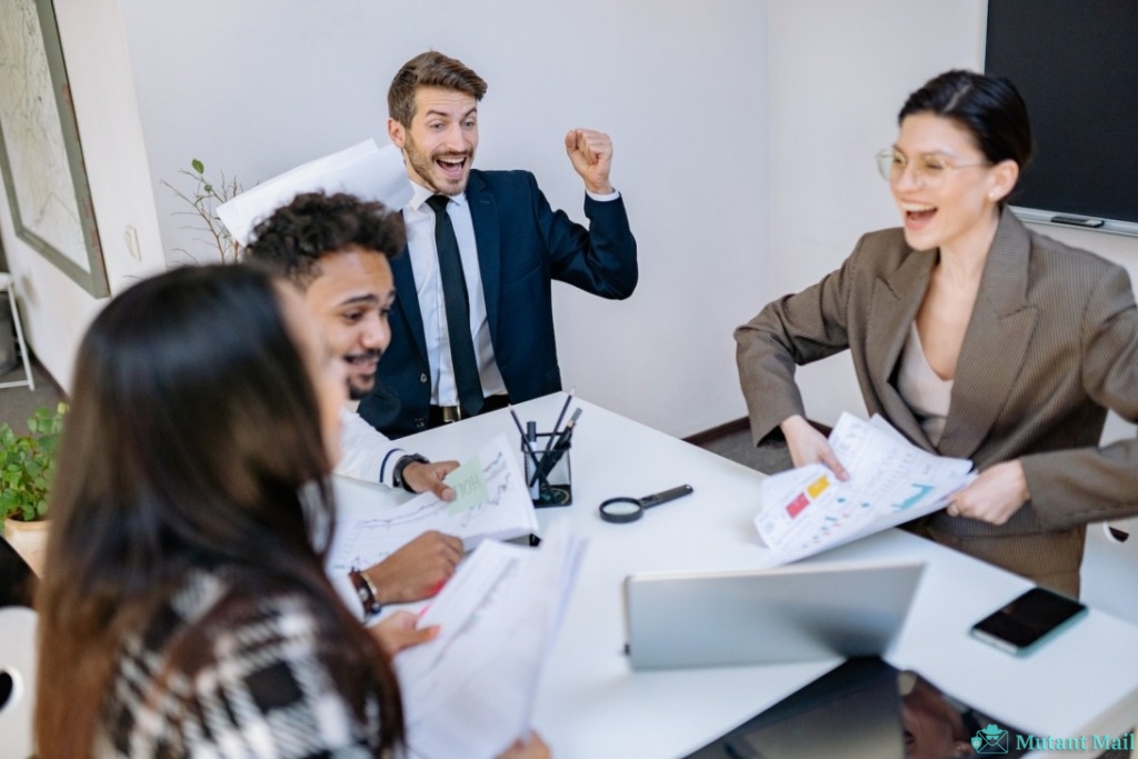
<path id="1" fill-rule="evenodd" d="M 348 570 L 379 563 L 427 530 L 461 537 L 468 550 L 486 538 L 537 531 L 534 502 L 505 435 L 483 446 L 447 481 L 457 490 L 451 503 L 423 493 L 391 506 L 377 503 L 376 490 L 381 486 L 335 479 L 336 534 L 324 567 L 341 595 L 354 597 Z"/>

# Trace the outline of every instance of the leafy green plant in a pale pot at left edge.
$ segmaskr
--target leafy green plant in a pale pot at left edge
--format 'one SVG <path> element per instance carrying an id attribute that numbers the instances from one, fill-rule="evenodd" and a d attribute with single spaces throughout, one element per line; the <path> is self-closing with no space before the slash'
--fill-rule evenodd
<path id="1" fill-rule="evenodd" d="M 67 404 L 38 409 L 27 435 L 0 424 L 0 515 L 3 536 L 33 570 L 43 567 L 48 537 L 48 492 L 56 473 L 56 445 Z"/>

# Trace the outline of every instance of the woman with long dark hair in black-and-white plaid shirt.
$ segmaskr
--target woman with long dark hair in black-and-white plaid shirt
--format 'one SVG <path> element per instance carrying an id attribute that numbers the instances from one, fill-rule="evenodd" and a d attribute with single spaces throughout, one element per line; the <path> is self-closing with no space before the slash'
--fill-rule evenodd
<path id="1" fill-rule="evenodd" d="M 99 314 L 38 599 L 42 759 L 399 745 L 388 657 L 431 632 L 403 612 L 373 636 L 324 576 L 345 396 L 303 299 L 265 273 L 179 269 Z"/>

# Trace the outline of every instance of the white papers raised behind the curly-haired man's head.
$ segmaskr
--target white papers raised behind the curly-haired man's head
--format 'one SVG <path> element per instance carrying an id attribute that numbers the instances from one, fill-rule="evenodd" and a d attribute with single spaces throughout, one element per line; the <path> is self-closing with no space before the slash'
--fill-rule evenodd
<path id="1" fill-rule="evenodd" d="M 310 160 L 217 206 L 217 216 L 242 246 L 253 228 L 302 192 L 351 192 L 398 211 L 411 200 L 411 180 L 403 154 L 394 145 L 380 148 L 366 139 L 346 150 Z"/>

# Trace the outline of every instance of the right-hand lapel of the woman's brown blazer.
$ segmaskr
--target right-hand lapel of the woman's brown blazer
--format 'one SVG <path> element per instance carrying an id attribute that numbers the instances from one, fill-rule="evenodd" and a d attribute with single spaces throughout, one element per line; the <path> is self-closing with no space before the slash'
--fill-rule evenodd
<path id="1" fill-rule="evenodd" d="M 1030 251 L 1028 230 L 1005 209 L 960 346 L 942 455 L 975 453 L 1015 386 L 1036 327 L 1026 299 Z"/>

